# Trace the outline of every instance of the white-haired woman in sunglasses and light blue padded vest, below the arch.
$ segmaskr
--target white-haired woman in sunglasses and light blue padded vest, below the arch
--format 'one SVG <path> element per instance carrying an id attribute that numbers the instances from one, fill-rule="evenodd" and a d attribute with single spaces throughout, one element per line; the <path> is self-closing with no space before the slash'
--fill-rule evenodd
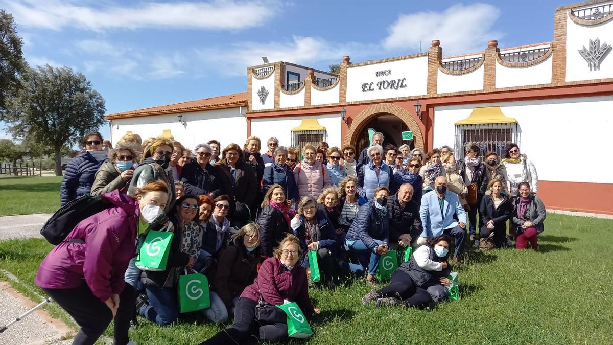
<path id="1" fill-rule="evenodd" d="M 386 187 L 388 192 L 394 189 L 394 174 L 389 165 L 383 163 L 383 149 L 381 145 L 372 145 L 368 148 L 370 163 L 360 166 L 357 172 L 357 193 L 368 200 L 375 189 Z"/>

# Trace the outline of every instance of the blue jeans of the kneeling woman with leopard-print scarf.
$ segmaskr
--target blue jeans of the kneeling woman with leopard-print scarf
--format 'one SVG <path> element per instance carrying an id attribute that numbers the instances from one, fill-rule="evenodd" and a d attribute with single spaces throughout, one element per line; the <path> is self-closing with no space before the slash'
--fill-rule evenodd
<path id="1" fill-rule="evenodd" d="M 146 317 L 161 326 L 170 325 L 179 318 L 176 288 L 165 287 L 160 289 L 157 286 L 149 285 L 145 287 L 145 291 L 149 298 L 149 304 L 140 308 L 138 311 L 140 316 Z"/>

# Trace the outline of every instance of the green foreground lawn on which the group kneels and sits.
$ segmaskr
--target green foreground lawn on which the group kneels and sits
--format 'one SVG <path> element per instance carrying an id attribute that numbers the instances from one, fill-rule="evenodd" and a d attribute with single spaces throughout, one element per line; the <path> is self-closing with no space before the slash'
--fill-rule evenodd
<path id="1" fill-rule="evenodd" d="M 456 269 L 460 300 L 425 311 L 362 306 L 370 289 L 359 279 L 336 292 L 311 289 L 322 315 L 311 320 L 308 343 L 611 344 L 612 229 L 612 220 L 548 214 L 540 252 L 470 249 Z M 50 249 L 42 239 L 0 242 L 0 268 L 19 277 L 19 290 L 42 295 L 33 281 Z M 139 344 L 197 344 L 220 329 L 202 317 L 170 327 L 140 319 L 131 337 Z"/>

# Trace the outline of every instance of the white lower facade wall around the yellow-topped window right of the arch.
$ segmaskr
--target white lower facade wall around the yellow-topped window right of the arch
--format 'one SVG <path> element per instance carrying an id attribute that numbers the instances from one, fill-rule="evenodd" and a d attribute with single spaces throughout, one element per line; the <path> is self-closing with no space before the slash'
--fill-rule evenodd
<path id="1" fill-rule="evenodd" d="M 521 152 L 535 163 L 540 180 L 613 183 L 613 174 L 607 173 L 613 160 L 598 160 L 595 169 L 585 169 L 591 149 L 611 146 L 613 96 L 435 107 L 433 145 L 453 146 L 454 123 L 474 107 L 487 106 L 500 106 L 519 122 Z M 573 168 L 566 164 L 571 160 L 582 163 Z"/>

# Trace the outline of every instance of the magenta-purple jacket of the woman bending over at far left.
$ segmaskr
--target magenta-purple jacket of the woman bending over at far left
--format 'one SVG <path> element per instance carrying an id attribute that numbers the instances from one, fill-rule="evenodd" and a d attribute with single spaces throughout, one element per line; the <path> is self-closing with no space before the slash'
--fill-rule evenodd
<path id="1" fill-rule="evenodd" d="M 83 239 L 85 244 L 61 242 L 40 263 L 36 285 L 46 289 L 71 289 L 87 283 L 102 302 L 123 292 L 124 273 L 136 252 L 140 209 L 138 203 L 119 190 L 103 199 L 116 207 L 82 220 L 66 239 Z"/>

